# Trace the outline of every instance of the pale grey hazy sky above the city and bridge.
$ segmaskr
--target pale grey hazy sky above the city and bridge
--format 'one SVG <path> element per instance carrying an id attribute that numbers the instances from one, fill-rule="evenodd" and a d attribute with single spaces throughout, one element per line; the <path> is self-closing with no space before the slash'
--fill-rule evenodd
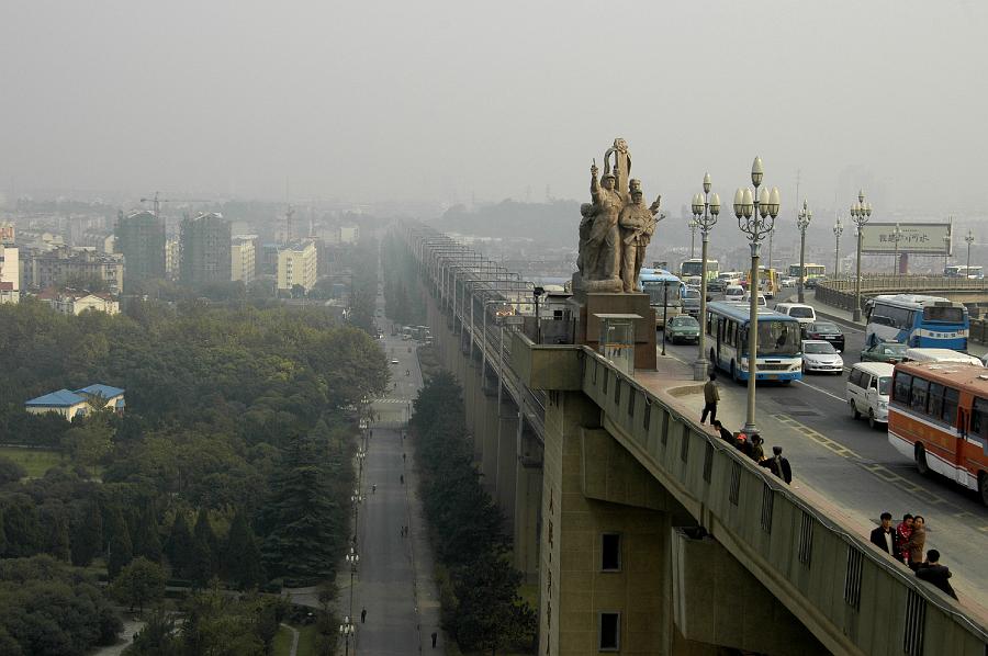
<path id="1" fill-rule="evenodd" d="M 986 202 L 988 2 L 0 0 L 0 189 Z M 858 182 L 861 181 L 861 182 Z M 527 190 L 530 190 L 528 192 Z"/>

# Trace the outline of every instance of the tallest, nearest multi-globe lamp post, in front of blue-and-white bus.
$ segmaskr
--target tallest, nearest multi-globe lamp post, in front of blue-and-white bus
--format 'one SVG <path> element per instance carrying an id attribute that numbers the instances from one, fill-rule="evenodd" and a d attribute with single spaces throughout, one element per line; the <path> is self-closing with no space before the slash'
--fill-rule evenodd
<path id="1" fill-rule="evenodd" d="M 759 353 L 759 262 L 761 260 L 762 240 L 775 228 L 775 217 L 778 216 L 779 194 L 778 188 L 770 192 L 762 186 L 764 178 L 762 158 L 755 157 L 751 165 L 750 188 L 739 188 L 734 192 L 734 216 L 738 218 L 738 227 L 748 235 L 751 242 L 751 273 L 748 276 L 748 292 L 751 297 L 749 310 L 748 330 L 748 357 L 741 359 L 741 370 L 748 367 L 748 416 L 742 431 L 751 434 L 757 432 L 755 425 L 755 382 L 757 380 L 757 353 Z M 759 191 L 759 188 L 761 192 Z M 746 362 L 745 362 L 746 360 Z"/>

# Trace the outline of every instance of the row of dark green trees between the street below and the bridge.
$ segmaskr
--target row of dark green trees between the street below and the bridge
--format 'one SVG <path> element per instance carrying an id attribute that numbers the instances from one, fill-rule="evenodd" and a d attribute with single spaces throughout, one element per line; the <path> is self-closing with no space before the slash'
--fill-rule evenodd
<path id="1" fill-rule="evenodd" d="M 442 624 L 464 651 L 530 649 L 536 613 L 518 597 L 504 518 L 480 484 L 461 391 L 440 372 L 415 400 L 411 430 L 419 451 L 422 497 L 442 565 Z"/>

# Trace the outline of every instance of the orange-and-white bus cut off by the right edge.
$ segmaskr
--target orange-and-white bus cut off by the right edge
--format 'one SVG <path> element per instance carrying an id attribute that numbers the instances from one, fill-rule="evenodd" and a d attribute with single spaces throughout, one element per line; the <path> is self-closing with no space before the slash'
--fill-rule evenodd
<path id="1" fill-rule="evenodd" d="M 988 505 L 988 369 L 961 362 L 896 365 L 888 441 L 916 462 L 977 490 Z"/>

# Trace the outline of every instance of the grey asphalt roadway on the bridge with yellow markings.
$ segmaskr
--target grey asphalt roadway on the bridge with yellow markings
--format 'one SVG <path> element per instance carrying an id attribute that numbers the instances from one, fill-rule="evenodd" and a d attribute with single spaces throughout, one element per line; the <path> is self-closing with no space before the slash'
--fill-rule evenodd
<path id="1" fill-rule="evenodd" d="M 864 342 L 861 330 L 842 326 L 844 363 L 858 361 Z M 661 340 L 661 332 L 659 333 Z M 661 349 L 661 346 L 660 346 Z M 661 351 L 660 351 L 661 352 Z M 684 363 L 696 360 L 694 344 L 669 344 L 669 355 Z M 721 404 L 718 418 L 731 430 L 744 423 L 746 387 L 723 372 L 718 378 Z M 844 400 L 843 375 L 809 374 L 787 386 L 760 384 L 757 426 L 765 451 L 781 445 L 793 464 L 794 484 L 806 485 L 861 522 L 878 524 L 888 510 L 897 523 L 905 512 L 927 520 L 927 550 L 938 548 L 954 573 L 962 601 L 988 609 L 988 508 L 976 495 L 951 480 L 921 476 L 889 443 L 884 427 L 875 430 L 855 420 Z M 686 397 L 699 417 L 703 398 Z"/>

